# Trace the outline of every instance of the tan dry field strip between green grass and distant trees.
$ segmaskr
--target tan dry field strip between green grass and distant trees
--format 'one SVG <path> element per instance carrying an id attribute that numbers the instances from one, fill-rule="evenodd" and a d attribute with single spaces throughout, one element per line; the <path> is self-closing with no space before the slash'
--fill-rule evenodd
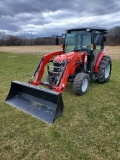
<path id="1" fill-rule="evenodd" d="M 120 59 L 120 46 L 106 46 L 108 55 L 112 59 Z M 61 50 L 60 46 L 4 46 L 0 47 L 0 52 L 11 52 L 17 54 L 47 54 Z"/>

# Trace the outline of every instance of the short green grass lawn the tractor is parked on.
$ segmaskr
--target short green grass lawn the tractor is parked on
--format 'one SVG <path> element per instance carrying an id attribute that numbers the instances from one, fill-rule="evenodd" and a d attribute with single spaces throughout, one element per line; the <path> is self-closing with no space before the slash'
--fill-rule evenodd
<path id="1" fill-rule="evenodd" d="M 90 83 L 78 97 L 68 83 L 64 112 L 46 124 L 4 103 L 12 80 L 27 82 L 39 55 L 0 53 L 0 159 L 119 160 L 120 60 L 106 84 Z"/>

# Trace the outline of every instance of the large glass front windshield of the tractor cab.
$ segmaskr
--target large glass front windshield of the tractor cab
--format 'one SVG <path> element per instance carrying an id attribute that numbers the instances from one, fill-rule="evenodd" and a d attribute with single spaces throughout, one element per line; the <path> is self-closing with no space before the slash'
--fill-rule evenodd
<path id="1" fill-rule="evenodd" d="M 70 31 L 65 38 L 65 52 L 90 51 L 91 32 Z"/>

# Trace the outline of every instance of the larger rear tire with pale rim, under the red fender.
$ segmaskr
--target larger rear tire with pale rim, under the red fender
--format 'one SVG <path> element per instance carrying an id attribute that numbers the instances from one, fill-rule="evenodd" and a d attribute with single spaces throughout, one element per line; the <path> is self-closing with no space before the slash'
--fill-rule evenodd
<path id="1" fill-rule="evenodd" d="M 112 69 L 111 58 L 109 56 L 104 56 L 99 65 L 96 82 L 98 83 L 108 82 L 111 75 L 111 69 Z"/>

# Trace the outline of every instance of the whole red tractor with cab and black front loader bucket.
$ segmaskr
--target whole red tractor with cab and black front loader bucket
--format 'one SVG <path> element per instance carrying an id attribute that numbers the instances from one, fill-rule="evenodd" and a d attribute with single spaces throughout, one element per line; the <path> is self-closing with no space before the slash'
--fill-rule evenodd
<path id="1" fill-rule="evenodd" d="M 67 30 L 63 50 L 43 56 L 28 83 L 13 81 L 5 102 L 52 124 L 62 114 L 61 93 L 67 82 L 73 84 L 73 93 L 81 96 L 88 91 L 90 79 L 109 81 L 112 62 L 104 50 L 107 32 L 104 28 Z M 42 81 L 45 67 L 46 80 Z"/>

